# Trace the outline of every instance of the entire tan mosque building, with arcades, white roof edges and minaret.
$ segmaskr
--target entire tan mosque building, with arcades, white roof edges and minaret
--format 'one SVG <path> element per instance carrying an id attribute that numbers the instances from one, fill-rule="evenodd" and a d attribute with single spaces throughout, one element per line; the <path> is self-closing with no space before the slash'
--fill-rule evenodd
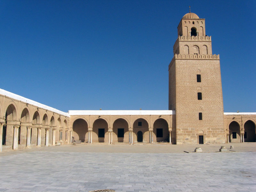
<path id="1" fill-rule="evenodd" d="M 223 113 L 220 57 L 205 19 L 185 14 L 169 64 L 169 110 L 70 110 L 0 89 L 0 152 L 84 143 L 255 142 L 256 113 Z"/>

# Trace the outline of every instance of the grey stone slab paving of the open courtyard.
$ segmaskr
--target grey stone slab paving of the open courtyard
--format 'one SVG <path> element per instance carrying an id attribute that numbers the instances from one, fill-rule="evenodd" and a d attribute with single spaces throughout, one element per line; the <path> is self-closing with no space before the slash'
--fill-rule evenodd
<path id="1" fill-rule="evenodd" d="M 255 160 L 255 152 L 14 153 L 0 157 L 0 191 L 252 192 Z"/>

